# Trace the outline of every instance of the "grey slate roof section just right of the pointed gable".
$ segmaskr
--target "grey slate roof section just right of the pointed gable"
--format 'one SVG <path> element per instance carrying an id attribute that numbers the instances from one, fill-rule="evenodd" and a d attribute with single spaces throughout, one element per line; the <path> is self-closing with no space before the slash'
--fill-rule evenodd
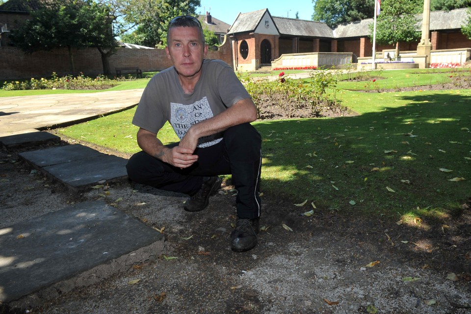
<path id="1" fill-rule="evenodd" d="M 327 38 L 334 36 L 332 29 L 325 23 L 276 16 L 273 16 L 272 19 L 278 27 L 280 35 Z"/>

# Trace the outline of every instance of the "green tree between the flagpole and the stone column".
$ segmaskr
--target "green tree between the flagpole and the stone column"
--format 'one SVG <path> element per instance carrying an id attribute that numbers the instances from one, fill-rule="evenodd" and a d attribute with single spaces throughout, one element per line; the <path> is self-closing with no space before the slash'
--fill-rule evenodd
<path id="1" fill-rule="evenodd" d="M 422 5 L 419 5 L 422 3 Z M 416 14 L 422 11 L 422 0 L 382 0 L 381 14 L 377 17 L 376 42 L 378 44 L 395 44 L 395 57 L 399 57 L 399 42 L 411 42 L 420 38 L 416 30 Z M 371 39 L 373 25 L 370 25 Z"/>

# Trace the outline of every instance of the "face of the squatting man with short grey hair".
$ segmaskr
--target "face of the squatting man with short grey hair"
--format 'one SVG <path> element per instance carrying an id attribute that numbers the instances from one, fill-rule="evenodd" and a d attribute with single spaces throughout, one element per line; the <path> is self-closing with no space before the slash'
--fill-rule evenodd
<path id="1" fill-rule="evenodd" d="M 193 78 L 201 74 L 208 46 L 202 41 L 197 27 L 173 27 L 165 51 L 180 76 Z"/>

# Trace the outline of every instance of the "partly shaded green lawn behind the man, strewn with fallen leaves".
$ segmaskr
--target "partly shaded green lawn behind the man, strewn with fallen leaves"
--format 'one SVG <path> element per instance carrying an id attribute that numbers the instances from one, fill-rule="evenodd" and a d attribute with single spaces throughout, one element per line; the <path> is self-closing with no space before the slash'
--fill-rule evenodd
<path id="1" fill-rule="evenodd" d="M 450 75 L 389 71 L 381 76 L 392 84 L 429 84 Z M 264 195 L 293 204 L 307 200 L 303 208 L 293 207 L 300 211 L 313 203 L 392 219 L 458 215 L 471 191 L 471 90 L 364 93 L 355 91 L 364 81 L 341 84 L 353 88 L 342 89 L 339 100 L 360 115 L 254 123 L 263 138 Z M 60 133 L 132 154 L 139 150 L 134 111 Z M 160 135 L 166 143 L 177 140 L 169 125 Z"/>

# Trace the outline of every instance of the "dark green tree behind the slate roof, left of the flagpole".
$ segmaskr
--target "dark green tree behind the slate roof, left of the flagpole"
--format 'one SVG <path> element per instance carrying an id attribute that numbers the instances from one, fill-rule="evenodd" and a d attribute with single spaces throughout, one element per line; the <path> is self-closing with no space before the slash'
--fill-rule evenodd
<path id="1" fill-rule="evenodd" d="M 374 0 L 313 0 L 313 20 L 330 27 L 372 18 Z"/>

